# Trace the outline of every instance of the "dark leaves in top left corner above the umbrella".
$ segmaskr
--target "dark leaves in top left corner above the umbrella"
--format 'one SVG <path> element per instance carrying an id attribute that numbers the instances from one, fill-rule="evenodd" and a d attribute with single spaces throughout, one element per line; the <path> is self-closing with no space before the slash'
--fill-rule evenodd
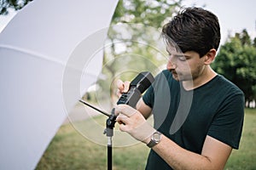
<path id="1" fill-rule="evenodd" d="M 0 14 L 9 14 L 9 8 L 19 10 L 32 0 L 0 0 Z"/>

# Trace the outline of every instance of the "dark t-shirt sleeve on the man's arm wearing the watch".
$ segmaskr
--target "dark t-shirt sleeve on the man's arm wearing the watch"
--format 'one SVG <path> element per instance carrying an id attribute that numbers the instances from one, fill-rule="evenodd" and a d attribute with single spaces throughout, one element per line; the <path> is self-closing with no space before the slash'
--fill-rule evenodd
<path id="1" fill-rule="evenodd" d="M 244 119 L 244 95 L 233 94 L 222 103 L 208 135 L 238 149 Z"/>

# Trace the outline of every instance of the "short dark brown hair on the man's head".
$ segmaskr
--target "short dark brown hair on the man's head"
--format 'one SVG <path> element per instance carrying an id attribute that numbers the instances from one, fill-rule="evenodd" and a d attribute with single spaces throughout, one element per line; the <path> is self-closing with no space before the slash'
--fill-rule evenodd
<path id="1" fill-rule="evenodd" d="M 183 53 L 195 51 L 200 57 L 220 42 L 218 17 L 203 8 L 184 8 L 162 29 L 166 42 L 170 38 Z"/>

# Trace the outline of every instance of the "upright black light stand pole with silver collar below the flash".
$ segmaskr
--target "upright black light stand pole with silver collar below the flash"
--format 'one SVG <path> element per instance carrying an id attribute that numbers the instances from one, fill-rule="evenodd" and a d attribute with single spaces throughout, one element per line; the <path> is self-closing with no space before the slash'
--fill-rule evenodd
<path id="1" fill-rule="evenodd" d="M 112 137 L 113 137 L 113 127 L 114 127 L 114 123 L 116 116 L 114 115 L 114 109 L 112 110 L 111 115 L 108 117 L 107 122 L 106 122 L 106 129 L 104 131 L 104 133 L 106 133 L 107 137 L 108 137 L 108 170 L 112 170 L 112 148 L 113 148 L 113 144 L 112 144 Z"/>

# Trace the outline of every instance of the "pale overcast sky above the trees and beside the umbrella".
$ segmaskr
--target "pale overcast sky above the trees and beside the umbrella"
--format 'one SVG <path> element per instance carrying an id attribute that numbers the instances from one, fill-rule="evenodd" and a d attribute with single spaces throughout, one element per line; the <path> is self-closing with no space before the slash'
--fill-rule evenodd
<path id="1" fill-rule="evenodd" d="M 196 6 L 211 10 L 218 16 L 221 26 L 222 40 L 228 34 L 234 35 L 247 29 L 250 37 L 256 37 L 256 1 L 255 0 L 183 0 L 184 6 Z M 15 15 L 11 12 L 8 16 L 0 16 L 0 32 Z"/>

